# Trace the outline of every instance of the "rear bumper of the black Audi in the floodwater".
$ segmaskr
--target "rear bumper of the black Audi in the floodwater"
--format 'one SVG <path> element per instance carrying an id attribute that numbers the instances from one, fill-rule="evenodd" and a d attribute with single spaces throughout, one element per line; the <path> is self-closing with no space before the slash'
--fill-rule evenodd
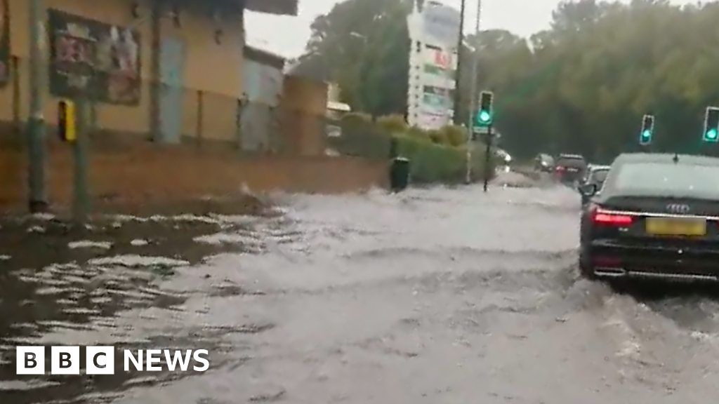
<path id="1" fill-rule="evenodd" d="M 599 277 L 652 277 L 719 281 L 719 246 L 626 245 L 595 240 L 589 257 Z"/>

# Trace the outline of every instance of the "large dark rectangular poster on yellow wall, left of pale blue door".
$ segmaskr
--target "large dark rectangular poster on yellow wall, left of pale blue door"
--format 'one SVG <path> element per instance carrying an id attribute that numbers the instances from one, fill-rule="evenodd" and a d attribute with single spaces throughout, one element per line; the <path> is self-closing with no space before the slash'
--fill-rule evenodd
<path id="1" fill-rule="evenodd" d="M 133 29 L 49 10 L 50 91 L 108 104 L 140 100 L 140 38 Z"/>

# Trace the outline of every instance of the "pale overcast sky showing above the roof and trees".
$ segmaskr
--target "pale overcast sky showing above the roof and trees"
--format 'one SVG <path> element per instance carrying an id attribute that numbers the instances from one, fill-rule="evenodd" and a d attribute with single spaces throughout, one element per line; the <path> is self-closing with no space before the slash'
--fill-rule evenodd
<path id="1" fill-rule="evenodd" d="M 299 0 L 298 17 L 278 17 L 267 14 L 247 13 L 247 42 L 288 58 L 303 53 L 310 37 L 310 24 L 321 14 L 328 13 L 334 4 L 343 0 Z M 459 9 L 461 0 L 441 0 Z M 482 29 L 508 29 L 528 37 L 549 27 L 551 12 L 560 0 L 482 0 Z M 672 0 L 676 4 L 688 0 Z M 477 0 L 467 0 L 467 23 L 465 31 L 475 27 Z"/>

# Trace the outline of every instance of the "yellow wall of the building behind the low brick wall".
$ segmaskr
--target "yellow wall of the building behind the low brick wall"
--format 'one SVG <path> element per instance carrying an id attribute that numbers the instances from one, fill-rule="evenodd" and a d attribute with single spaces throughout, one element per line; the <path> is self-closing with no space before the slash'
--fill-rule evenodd
<path id="1" fill-rule="evenodd" d="M 19 58 L 19 111 L 27 119 L 29 104 L 29 4 L 27 0 L 9 0 L 12 55 Z M 150 2 L 140 1 L 140 17 L 135 19 L 129 0 L 45 0 L 47 9 L 59 9 L 88 19 L 120 27 L 132 27 L 140 37 L 142 92 L 139 105 L 121 106 L 99 103 L 96 106 L 99 129 L 118 132 L 149 132 L 152 91 L 152 19 Z M 46 17 L 47 18 L 47 17 Z M 239 21 L 225 21 L 221 44 L 216 44 L 217 24 L 208 16 L 189 12 L 180 14 L 181 26 L 164 17 L 162 37 L 175 37 L 186 46 L 183 96 L 183 135 L 195 136 L 197 130 L 197 91 L 206 92 L 203 130 L 207 139 L 234 139 L 237 98 L 242 94 L 242 36 Z M 49 62 L 50 44 L 43 35 Z M 59 98 L 50 95 L 49 74 L 43 75 L 45 119 L 57 124 Z M 13 78 L 0 88 L 0 121 L 12 120 Z"/>

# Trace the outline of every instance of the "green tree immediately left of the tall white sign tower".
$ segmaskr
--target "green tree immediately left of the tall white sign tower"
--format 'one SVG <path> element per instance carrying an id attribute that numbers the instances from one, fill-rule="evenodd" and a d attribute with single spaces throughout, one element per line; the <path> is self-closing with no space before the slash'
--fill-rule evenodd
<path id="1" fill-rule="evenodd" d="M 295 74 L 332 81 L 342 101 L 373 115 L 406 111 L 411 1 L 348 0 L 311 25 Z"/>

